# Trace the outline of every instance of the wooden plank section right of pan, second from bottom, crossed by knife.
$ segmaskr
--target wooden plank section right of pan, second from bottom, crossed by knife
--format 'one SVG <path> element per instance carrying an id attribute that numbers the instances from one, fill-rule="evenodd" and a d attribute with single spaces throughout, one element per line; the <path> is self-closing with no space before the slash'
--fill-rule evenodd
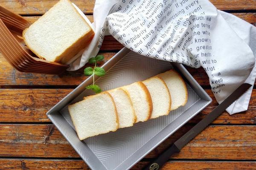
<path id="1" fill-rule="evenodd" d="M 186 125 L 180 128 L 147 157 L 153 158 L 162 153 L 191 127 Z M 256 126 L 210 125 L 171 159 L 256 160 L 256 140 L 251 132 L 253 129 Z"/>

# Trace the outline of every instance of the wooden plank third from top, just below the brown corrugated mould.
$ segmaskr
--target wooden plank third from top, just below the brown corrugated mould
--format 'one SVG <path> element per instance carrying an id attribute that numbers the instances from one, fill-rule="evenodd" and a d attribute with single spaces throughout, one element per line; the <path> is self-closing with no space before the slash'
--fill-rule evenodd
<path id="1" fill-rule="evenodd" d="M 111 41 L 109 41 L 109 44 L 111 44 Z M 103 54 L 105 57 L 104 61 L 99 63 L 99 66 L 101 66 L 116 53 L 99 54 Z M 65 71 L 61 76 L 23 73 L 15 70 L 0 54 L 0 88 L 6 88 L 8 85 L 80 85 L 87 78 L 84 76 L 83 69 L 88 66 L 91 65 L 87 64 L 78 71 Z M 209 86 L 209 78 L 203 68 L 186 67 L 186 69 L 200 85 Z M 256 85 L 256 82 L 254 85 Z"/>

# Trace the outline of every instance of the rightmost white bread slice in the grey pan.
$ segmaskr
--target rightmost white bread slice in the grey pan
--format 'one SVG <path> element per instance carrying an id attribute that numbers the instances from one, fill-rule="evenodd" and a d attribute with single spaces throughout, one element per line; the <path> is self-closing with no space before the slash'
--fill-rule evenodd
<path id="1" fill-rule="evenodd" d="M 175 110 L 178 107 L 185 105 L 188 100 L 188 91 L 180 74 L 175 70 L 169 70 L 158 74 L 158 77 L 163 79 L 170 91 L 172 98 L 171 110 Z"/>

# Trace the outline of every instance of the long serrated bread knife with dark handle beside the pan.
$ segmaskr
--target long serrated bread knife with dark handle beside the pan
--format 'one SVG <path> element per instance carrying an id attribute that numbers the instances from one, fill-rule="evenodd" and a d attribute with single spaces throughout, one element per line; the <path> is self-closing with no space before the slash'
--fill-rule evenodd
<path id="1" fill-rule="evenodd" d="M 173 143 L 167 150 L 160 154 L 154 161 L 151 161 L 143 170 L 159 170 L 174 153 L 179 153 L 189 141 L 205 129 L 212 121 L 214 121 L 222 112 L 226 110 L 233 102 L 236 101 L 245 91 L 252 85 L 244 83 L 239 86 L 230 96 L 227 97 L 220 105 L 212 110 L 204 119 L 198 122 L 192 129 L 185 133 L 180 139 Z"/>

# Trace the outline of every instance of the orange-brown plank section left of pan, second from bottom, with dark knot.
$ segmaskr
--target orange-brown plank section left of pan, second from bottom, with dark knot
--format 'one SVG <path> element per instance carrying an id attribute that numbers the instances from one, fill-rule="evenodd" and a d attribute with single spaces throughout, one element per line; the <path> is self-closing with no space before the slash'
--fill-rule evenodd
<path id="1" fill-rule="evenodd" d="M 0 125 L 0 131 L 1 156 L 79 157 L 54 125 Z"/>

